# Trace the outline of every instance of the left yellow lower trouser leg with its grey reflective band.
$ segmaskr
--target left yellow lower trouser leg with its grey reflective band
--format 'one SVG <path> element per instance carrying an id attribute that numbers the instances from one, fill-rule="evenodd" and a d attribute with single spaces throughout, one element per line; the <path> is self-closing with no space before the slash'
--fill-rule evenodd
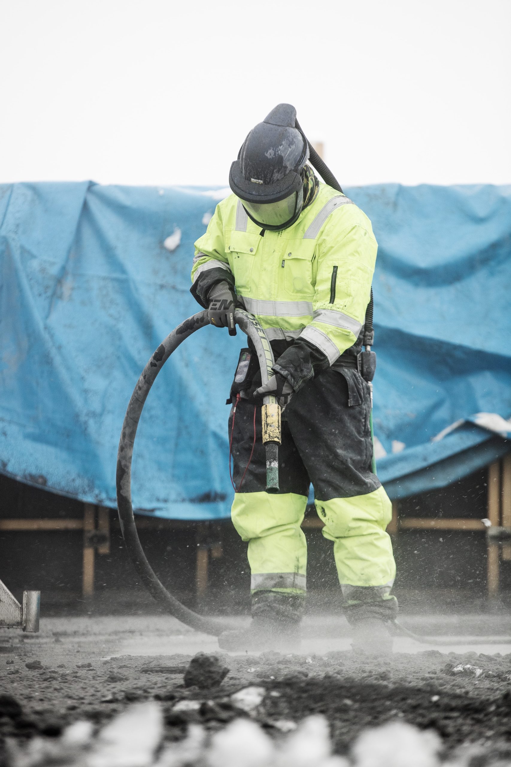
<path id="1" fill-rule="evenodd" d="M 253 592 L 303 594 L 306 590 L 307 546 L 300 527 L 306 505 L 306 496 L 293 492 L 234 495 L 231 518 L 248 542 Z"/>

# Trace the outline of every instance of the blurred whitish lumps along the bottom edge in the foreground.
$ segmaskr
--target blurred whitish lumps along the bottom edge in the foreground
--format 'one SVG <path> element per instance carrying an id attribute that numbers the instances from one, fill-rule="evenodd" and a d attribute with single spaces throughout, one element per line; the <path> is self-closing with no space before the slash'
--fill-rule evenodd
<path id="1" fill-rule="evenodd" d="M 165 742 L 161 704 L 135 703 L 112 722 L 93 731 L 87 721 L 68 726 L 55 738 L 38 736 L 5 743 L 5 767 L 491 767 L 507 765 L 511 746 L 465 746 L 446 762 L 441 738 L 393 721 L 363 730 L 344 756 L 333 753 L 329 723 L 320 714 L 272 738 L 250 718 L 235 718 L 208 732 L 188 725 L 185 736 Z"/>

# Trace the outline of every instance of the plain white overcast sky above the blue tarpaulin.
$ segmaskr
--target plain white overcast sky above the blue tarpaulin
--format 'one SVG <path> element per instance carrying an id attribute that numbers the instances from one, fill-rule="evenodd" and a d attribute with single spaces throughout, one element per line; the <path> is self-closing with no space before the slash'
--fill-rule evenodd
<path id="1" fill-rule="evenodd" d="M 227 184 L 280 101 L 344 186 L 511 183 L 511 0 L 0 0 L 0 182 Z"/>

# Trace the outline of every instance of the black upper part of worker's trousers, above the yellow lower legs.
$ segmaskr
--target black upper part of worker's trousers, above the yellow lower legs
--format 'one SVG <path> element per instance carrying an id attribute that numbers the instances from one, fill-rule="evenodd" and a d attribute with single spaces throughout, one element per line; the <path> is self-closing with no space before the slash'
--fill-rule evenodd
<path id="1" fill-rule="evenodd" d="M 238 401 L 234 430 L 233 411 L 234 407 L 229 435 L 234 484 L 239 492 L 264 491 L 266 453 L 261 441 L 260 402 L 252 397 Z M 369 384 L 351 367 L 325 370 L 294 394 L 283 412 L 280 492 L 308 495 L 312 482 L 316 501 L 329 501 L 378 489 L 380 482 L 371 471 L 370 413 Z"/>

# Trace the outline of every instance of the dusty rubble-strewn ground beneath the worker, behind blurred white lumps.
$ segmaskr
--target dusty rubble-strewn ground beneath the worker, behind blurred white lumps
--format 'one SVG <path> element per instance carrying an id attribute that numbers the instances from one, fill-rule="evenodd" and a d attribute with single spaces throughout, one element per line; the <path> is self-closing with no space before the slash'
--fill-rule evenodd
<path id="1" fill-rule="evenodd" d="M 507 748 L 511 615 L 429 614 L 402 623 L 439 644 L 398 637 L 393 656 L 361 657 L 351 650 L 349 624 L 331 614 L 306 617 L 301 651 L 290 654 L 219 653 L 215 637 L 162 615 L 43 617 L 39 634 L 0 629 L 0 756 L 5 737 L 56 736 L 77 719 L 103 726 L 135 701 L 159 702 L 169 742 L 185 737 L 190 723 L 215 732 L 243 716 L 236 694 L 253 686 L 264 704 L 251 716 L 270 734 L 282 721 L 321 713 L 339 753 L 362 729 L 396 718 L 436 729 L 446 753 L 470 739 Z M 215 663 L 228 669 L 215 689 L 186 684 L 198 652 L 217 653 Z"/>

